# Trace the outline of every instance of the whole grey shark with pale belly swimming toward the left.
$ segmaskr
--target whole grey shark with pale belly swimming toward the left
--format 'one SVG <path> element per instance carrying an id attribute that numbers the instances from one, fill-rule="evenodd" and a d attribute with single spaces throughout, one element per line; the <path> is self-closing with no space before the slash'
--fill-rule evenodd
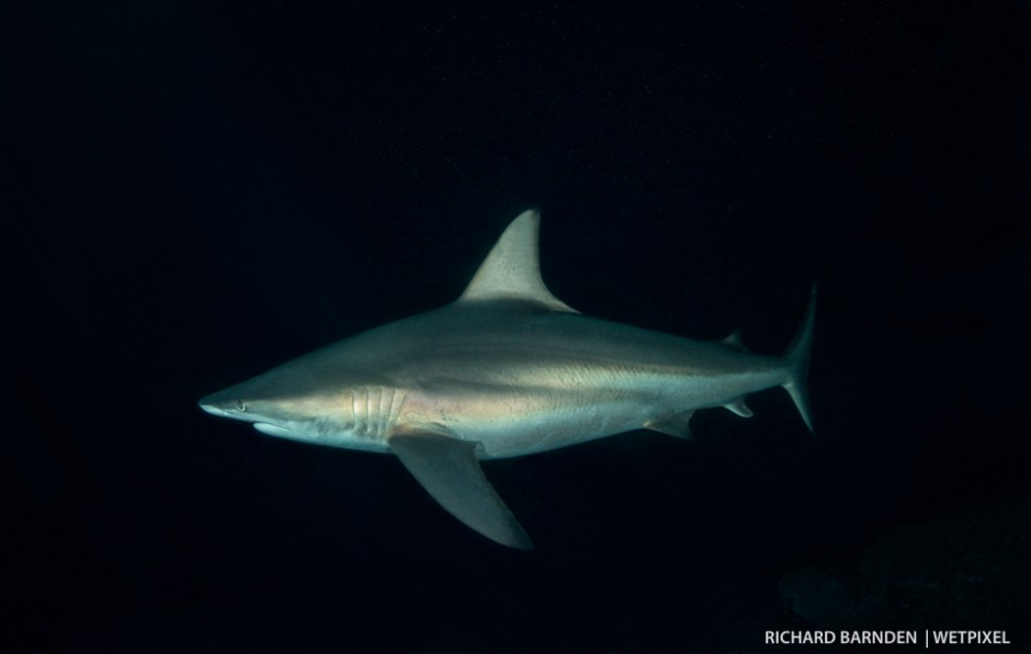
<path id="1" fill-rule="evenodd" d="M 456 301 L 302 356 L 201 408 L 271 436 L 394 452 L 447 512 L 519 549 L 533 546 L 481 459 L 641 428 L 690 438 L 695 411 L 747 417 L 745 395 L 775 386 L 812 432 L 815 288 L 780 357 L 747 352 L 736 333 L 703 342 L 608 322 L 548 291 L 539 226 L 535 210 L 516 218 Z"/>

